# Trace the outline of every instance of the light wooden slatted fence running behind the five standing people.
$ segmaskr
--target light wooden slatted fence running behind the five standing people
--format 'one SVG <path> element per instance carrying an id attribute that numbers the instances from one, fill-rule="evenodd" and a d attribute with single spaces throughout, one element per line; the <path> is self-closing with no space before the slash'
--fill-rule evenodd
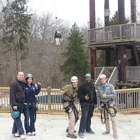
<path id="1" fill-rule="evenodd" d="M 43 88 L 38 99 L 38 113 L 64 114 L 60 89 Z M 98 94 L 98 93 L 97 93 Z M 116 90 L 116 108 L 119 113 L 140 111 L 140 88 Z M 81 111 L 79 102 L 77 109 Z M 9 88 L 0 88 L 0 112 L 10 112 Z M 98 109 L 95 109 L 95 113 Z"/>

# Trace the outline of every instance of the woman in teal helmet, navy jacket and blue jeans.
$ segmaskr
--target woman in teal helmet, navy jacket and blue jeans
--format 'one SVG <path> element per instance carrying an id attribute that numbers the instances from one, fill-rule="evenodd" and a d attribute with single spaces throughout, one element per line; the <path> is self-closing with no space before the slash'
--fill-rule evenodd
<path id="1" fill-rule="evenodd" d="M 41 84 L 38 82 L 38 85 L 33 84 L 33 75 L 26 75 L 26 83 L 25 83 L 25 103 L 24 103 L 24 126 L 26 130 L 26 134 L 29 136 L 35 136 L 35 119 L 36 119 L 36 97 L 41 90 Z M 30 121 L 29 121 L 30 120 Z"/>

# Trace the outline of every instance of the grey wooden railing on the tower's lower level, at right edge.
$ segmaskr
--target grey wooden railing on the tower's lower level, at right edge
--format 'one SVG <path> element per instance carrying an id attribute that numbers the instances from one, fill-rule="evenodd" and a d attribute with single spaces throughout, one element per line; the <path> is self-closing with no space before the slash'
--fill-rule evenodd
<path id="1" fill-rule="evenodd" d="M 140 66 L 126 67 L 126 81 L 140 82 Z"/>

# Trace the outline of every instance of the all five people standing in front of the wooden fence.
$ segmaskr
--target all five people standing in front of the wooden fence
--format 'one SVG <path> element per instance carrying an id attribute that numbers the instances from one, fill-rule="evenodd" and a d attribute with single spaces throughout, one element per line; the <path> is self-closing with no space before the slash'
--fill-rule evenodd
<path id="1" fill-rule="evenodd" d="M 96 94 L 92 77 L 90 73 L 85 75 L 85 81 L 78 87 L 78 78 L 76 76 L 71 77 L 71 84 L 66 85 L 60 90 L 60 94 L 63 94 L 63 108 L 68 114 L 69 125 L 66 128 L 67 137 L 77 138 L 75 135 L 76 130 L 74 127 L 79 120 L 79 115 L 75 102 L 79 100 L 81 106 L 81 119 L 78 135 L 80 138 L 84 138 L 84 133 L 95 134 L 91 129 L 91 118 L 93 116 L 94 109 L 98 107 L 103 115 L 102 120 L 105 123 L 106 131 L 103 135 L 110 134 L 109 116 L 112 121 L 113 137 L 117 136 L 116 127 L 116 110 L 114 98 L 116 96 L 114 87 L 107 83 L 106 75 L 100 75 L 100 86 L 98 86 Z M 21 113 L 24 114 L 24 128 L 26 134 L 29 136 L 36 135 L 35 120 L 36 120 L 36 95 L 41 90 L 41 84 L 33 84 L 33 75 L 27 74 L 24 79 L 24 73 L 19 72 L 17 78 L 10 85 L 10 104 L 12 108 L 12 117 L 14 119 L 12 134 L 15 137 L 25 139 L 24 129 L 21 121 Z M 17 113 L 18 112 L 18 113 Z M 17 115 L 18 114 L 18 115 Z"/>

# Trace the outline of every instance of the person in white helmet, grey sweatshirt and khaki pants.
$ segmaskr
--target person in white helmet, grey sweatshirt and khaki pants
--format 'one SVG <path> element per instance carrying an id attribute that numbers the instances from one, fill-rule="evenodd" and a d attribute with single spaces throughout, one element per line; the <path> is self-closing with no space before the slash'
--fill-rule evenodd
<path id="1" fill-rule="evenodd" d="M 117 139 L 117 128 L 116 128 L 116 109 L 114 108 L 114 98 L 116 97 L 116 93 L 112 84 L 107 83 L 106 75 L 100 75 L 101 85 L 98 86 L 98 94 L 97 94 L 97 102 L 98 108 L 101 112 L 103 112 L 106 131 L 103 132 L 103 135 L 110 134 L 110 125 L 109 125 L 109 114 L 112 121 L 112 129 L 114 138 Z"/>

